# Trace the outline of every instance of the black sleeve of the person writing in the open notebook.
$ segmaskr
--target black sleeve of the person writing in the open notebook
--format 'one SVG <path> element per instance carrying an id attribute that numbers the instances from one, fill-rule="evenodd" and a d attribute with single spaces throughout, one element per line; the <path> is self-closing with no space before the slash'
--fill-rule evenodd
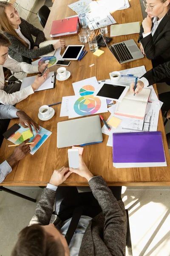
<path id="1" fill-rule="evenodd" d="M 149 85 L 158 83 L 165 79 L 170 79 L 170 61 L 149 70 L 142 77 L 145 77 Z"/>

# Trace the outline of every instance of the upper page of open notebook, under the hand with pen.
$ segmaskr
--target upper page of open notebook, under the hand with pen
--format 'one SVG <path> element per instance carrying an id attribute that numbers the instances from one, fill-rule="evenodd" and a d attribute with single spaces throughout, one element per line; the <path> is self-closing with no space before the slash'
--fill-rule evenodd
<path id="1" fill-rule="evenodd" d="M 130 93 L 130 90 L 126 93 L 124 99 L 130 99 L 135 101 L 141 101 L 141 102 L 148 102 L 149 96 L 150 96 L 150 89 L 143 88 L 142 91 L 138 94 Z"/>

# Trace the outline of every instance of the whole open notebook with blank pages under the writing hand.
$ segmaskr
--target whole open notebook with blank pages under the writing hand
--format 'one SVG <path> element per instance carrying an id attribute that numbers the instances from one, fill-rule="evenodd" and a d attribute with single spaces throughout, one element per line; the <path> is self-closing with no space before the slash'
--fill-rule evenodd
<path id="1" fill-rule="evenodd" d="M 122 102 L 117 103 L 115 115 L 144 119 L 150 92 L 150 89 L 143 88 L 134 96 L 129 89 Z"/>

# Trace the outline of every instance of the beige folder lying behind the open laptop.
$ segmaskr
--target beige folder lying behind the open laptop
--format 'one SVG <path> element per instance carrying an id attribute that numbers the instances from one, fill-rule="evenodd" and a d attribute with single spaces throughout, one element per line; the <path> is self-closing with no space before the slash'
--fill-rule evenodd
<path id="1" fill-rule="evenodd" d="M 119 36 L 119 35 L 130 35 L 136 34 L 140 32 L 140 21 L 125 23 L 125 24 L 118 24 L 111 26 L 111 37 Z"/>

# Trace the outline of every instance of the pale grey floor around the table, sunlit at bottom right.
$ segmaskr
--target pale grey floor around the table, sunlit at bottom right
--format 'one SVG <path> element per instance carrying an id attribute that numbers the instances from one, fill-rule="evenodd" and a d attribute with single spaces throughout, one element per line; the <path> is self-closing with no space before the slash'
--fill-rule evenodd
<path id="1" fill-rule="evenodd" d="M 33 12 L 44 4 L 38 0 Z M 142 3 L 142 0 L 141 0 Z M 142 4 L 143 15 L 144 8 Z M 42 29 L 36 15 L 29 21 Z M 170 87 L 158 85 L 159 93 L 169 91 Z M 166 132 L 170 131 L 170 122 Z M 14 188 L 13 188 L 14 189 Z M 15 188 L 17 192 L 40 198 L 40 188 Z M 129 209 L 130 232 L 133 256 L 170 256 L 170 187 L 123 187 L 122 199 Z M 35 203 L 0 192 L 0 256 L 9 256 L 17 240 L 17 234 L 28 225 L 34 214 Z"/>

